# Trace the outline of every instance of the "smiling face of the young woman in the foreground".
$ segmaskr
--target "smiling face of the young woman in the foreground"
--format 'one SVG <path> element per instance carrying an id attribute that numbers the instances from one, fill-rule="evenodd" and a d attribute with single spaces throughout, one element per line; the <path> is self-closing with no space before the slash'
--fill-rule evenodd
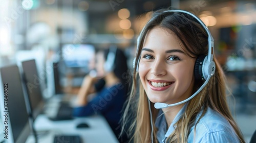
<path id="1" fill-rule="evenodd" d="M 139 61 L 139 76 L 151 102 L 173 104 L 191 96 L 196 59 L 185 54 L 167 29 L 149 31 Z"/>

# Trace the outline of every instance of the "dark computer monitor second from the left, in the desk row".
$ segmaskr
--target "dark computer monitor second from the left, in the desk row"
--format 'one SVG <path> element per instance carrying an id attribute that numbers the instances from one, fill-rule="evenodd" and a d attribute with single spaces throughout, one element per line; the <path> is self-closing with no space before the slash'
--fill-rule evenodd
<path id="1" fill-rule="evenodd" d="M 22 62 L 24 82 L 27 88 L 28 99 L 32 111 L 33 120 L 42 111 L 44 99 L 40 88 L 41 78 L 38 76 L 35 60 Z"/>

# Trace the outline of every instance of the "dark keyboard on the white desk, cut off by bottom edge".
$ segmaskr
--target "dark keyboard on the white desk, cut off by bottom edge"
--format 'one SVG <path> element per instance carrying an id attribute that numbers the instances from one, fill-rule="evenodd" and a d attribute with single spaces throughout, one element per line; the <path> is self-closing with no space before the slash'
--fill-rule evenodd
<path id="1" fill-rule="evenodd" d="M 79 135 L 55 135 L 53 143 L 81 143 Z"/>

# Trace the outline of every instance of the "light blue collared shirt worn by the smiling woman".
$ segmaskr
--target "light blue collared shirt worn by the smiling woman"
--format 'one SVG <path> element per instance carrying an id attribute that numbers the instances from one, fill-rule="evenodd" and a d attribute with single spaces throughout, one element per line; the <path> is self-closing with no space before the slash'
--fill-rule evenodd
<path id="1" fill-rule="evenodd" d="M 158 128 L 157 140 L 158 142 L 166 142 L 166 138 L 175 130 L 174 124 L 180 119 L 181 115 L 186 109 L 185 104 L 178 114 L 175 116 L 172 124 L 170 124 L 168 130 L 167 123 L 162 110 L 159 110 L 156 120 L 156 127 Z M 200 114 L 196 118 L 196 122 L 199 120 Z M 228 121 L 220 115 L 218 112 L 208 108 L 204 116 L 200 119 L 196 126 L 192 126 L 189 130 L 187 142 L 240 142 L 232 126 Z"/>

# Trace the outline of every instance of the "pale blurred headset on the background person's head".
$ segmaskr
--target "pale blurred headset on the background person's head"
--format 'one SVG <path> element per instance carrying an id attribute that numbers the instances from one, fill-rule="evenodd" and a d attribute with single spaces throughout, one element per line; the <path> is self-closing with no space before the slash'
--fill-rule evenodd
<path id="1" fill-rule="evenodd" d="M 108 56 L 106 56 L 106 61 L 103 65 L 106 73 L 110 73 L 115 68 L 116 51 L 117 47 L 115 45 L 110 46 Z"/>

